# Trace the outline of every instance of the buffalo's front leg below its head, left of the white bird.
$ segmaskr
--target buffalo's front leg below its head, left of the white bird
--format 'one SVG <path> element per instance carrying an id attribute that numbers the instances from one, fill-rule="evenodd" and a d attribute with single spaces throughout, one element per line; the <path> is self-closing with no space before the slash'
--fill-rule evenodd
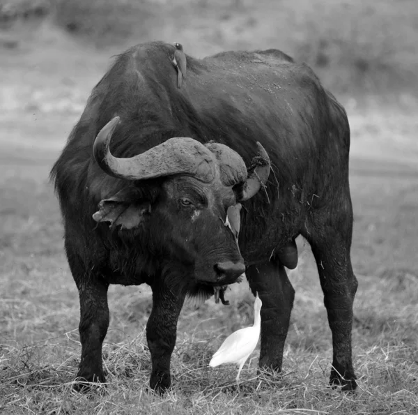
<path id="1" fill-rule="evenodd" d="M 171 354 L 176 345 L 177 322 L 185 301 L 176 287 L 155 283 L 153 310 L 146 325 L 146 338 L 150 349 L 152 371 L 150 388 L 164 392 L 171 386 Z"/>

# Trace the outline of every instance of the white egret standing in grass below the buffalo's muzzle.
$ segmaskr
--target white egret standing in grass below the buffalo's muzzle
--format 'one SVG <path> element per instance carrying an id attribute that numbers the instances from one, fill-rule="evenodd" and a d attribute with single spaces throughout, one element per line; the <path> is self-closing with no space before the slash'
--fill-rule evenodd
<path id="1" fill-rule="evenodd" d="M 256 296 L 254 301 L 254 324 L 245 329 L 240 329 L 229 335 L 218 351 L 212 356 L 210 360 L 210 367 L 216 368 L 216 366 L 223 365 L 225 363 L 235 363 L 239 366 L 238 375 L 235 380 L 238 383 L 240 379 L 240 372 L 245 362 L 249 358 L 249 355 L 254 352 L 260 338 L 261 329 L 261 299 Z"/>

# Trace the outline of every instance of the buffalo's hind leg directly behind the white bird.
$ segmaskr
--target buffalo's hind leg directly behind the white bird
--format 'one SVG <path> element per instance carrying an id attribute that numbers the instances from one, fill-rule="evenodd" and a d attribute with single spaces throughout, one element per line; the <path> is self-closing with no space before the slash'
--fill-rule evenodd
<path id="1" fill-rule="evenodd" d="M 252 292 L 258 292 L 261 307 L 260 368 L 281 370 L 295 290 L 284 266 L 276 262 L 251 265 L 245 271 Z"/>

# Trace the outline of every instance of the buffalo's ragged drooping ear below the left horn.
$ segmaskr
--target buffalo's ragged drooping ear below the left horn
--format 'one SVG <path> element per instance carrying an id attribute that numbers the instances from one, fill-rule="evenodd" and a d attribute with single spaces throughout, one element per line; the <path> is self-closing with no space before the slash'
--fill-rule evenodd
<path id="1" fill-rule="evenodd" d="M 109 199 L 99 202 L 99 210 L 93 213 L 96 222 L 109 222 L 110 229 L 135 229 L 144 222 L 144 216 L 151 211 L 149 202 L 132 203 L 121 191 Z"/>

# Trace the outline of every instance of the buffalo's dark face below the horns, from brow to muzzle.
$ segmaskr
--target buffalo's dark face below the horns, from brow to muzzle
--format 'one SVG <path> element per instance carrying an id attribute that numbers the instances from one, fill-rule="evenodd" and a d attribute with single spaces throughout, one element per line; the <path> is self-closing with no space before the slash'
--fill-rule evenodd
<path id="1" fill-rule="evenodd" d="M 157 205 L 153 221 L 155 227 L 163 223 L 171 234 L 171 243 L 176 247 L 171 258 L 183 266 L 190 262 L 196 281 L 219 285 L 235 282 L 245 268 L 238 273 L 231 269 L 229 276 L 216 267 L 223 262 L 244 267 L 232 232 L 222 226 L 225 206 L 235 204 L 233 190 L 217 183 L 203 185 L 191 177 L 170 179 L 163 188 L 165 197 Z"/>

